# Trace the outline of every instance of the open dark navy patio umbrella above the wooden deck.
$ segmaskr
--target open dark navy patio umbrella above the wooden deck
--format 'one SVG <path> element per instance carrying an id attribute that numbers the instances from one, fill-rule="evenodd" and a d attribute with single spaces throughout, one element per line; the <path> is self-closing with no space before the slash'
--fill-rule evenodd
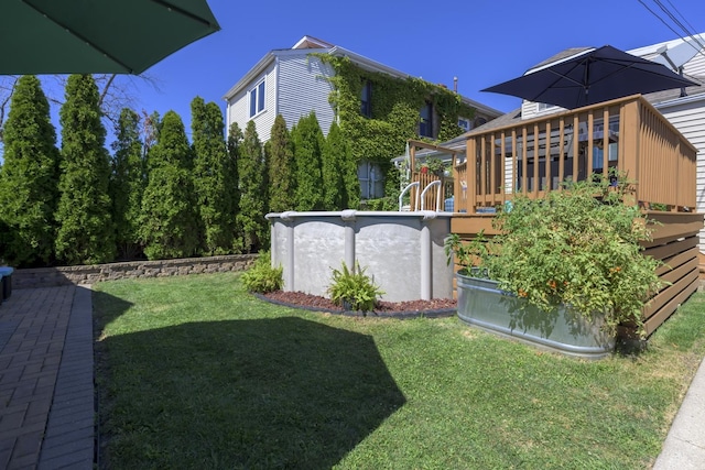
<path id="1" fill-rule="evenodd" d="M 606 45 L 536 67 L 482 91 L 575 109 L 630 95 L 697 85 L 661 64 Z"/>

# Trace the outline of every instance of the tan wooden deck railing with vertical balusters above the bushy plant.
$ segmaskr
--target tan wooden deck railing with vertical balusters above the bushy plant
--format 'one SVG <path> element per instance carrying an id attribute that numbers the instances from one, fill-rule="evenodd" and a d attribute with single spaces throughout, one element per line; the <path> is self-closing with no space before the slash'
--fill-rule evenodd
<path id="1" fill-rule="evenodd" d="M 476 214 L 518 193 L 538 198 L 610 168 L 636 182 L 644 208 L 688 211 L 696 153 L 640 95 L 529 119 L 468 138 L 467 160 L 455 166 L 455 211 Z"/>

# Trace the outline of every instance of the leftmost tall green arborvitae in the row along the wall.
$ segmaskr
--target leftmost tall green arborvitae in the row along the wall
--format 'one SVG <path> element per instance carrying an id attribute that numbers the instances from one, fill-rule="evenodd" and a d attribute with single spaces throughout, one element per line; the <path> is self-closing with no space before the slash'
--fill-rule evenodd
<path id="1" fill-rule="evenodd" d="M 58 200 L 56 130 L 40 80 L 23 76 L 14 88 L 4 127 L 0 173 L 0 256 L 25 267 L 54 256 Z"/>

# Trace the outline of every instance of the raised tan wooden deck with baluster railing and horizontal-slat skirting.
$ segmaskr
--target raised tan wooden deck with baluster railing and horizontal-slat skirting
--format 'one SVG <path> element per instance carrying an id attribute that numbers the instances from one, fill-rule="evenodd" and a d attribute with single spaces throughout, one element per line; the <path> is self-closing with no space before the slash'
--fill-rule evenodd
<path id="1" fill-rule="evenodd" d="M 629 204 L 639 205 L 649 219 L 660 223 L 653 240 L 643 243 L 644 255 L 663 261 L 658 274 L 668 283 L 643 310 L 647 335 L 651 335 L 697 289 L 699 266 L 705 264 L 698 250 L 703 214 L 693 212 L 696 153 L 637 95 L 471 132 L 465 161 L 457 162 L 453 153 L 453 179 L 412 172 L 412 181 L 420 182 L 421 189 L 434 177 L 452 184 L 451 231 L 471 239 L 480 230 L 485 236 L 496 234 L 494 214 L 484 212 L 501 210 L 517 194 L 540 198 L 546 192 L 562 190 L 565 181 L 584 181 L 595 174 L 608 177 L 610 168 L 626 174 L 634 182 Z M 425 208 L 438 203 L 432 193 L 426 194 Z"/>

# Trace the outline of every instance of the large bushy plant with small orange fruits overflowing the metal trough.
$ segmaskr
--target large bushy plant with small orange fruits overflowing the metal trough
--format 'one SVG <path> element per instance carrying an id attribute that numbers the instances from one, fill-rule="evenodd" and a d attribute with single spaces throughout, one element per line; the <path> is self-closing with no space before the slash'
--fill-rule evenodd
<path id="1" fill-rule="evenodd" d="M 492 255 L 480 249 L 477 256 L 479 242 L 458 245 L 452 238 L 446 253 L 487 269 L 502 289 L 545 311 L 563 304 L 587 320 L 604 316 L 609 332 L 623 324 L 643 332 L 642 308 L 663 283 L 655 274 L 660 262 L 640 245 L 650 239 L 649 222 L 638 206 L 625 204 L 630 187 L 623 175 L 611 175 L 541 199 L 518 195 L 494 221 L 500 234 Z"/>

